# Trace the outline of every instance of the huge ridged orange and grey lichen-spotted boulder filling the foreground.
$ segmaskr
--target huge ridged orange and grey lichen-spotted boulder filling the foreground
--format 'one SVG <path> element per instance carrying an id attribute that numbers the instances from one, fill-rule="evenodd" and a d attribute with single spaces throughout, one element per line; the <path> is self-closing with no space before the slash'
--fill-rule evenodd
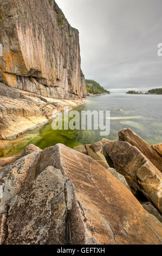
<path id="1" fill-rule="evenodd" d="M 22 157 L 0 175 L 2 244 L 67 243 L 67 220 L 73 244 L 161 243 L 161 223 L 131 191 L 62 144 Z"/>

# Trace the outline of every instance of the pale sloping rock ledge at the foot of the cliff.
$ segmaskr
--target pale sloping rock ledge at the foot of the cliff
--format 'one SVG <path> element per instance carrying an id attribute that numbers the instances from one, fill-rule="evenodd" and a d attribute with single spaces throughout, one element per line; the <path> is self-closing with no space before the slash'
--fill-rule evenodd
<path id="1" fill-rule="evenodd" d="M 0 83 L 0 145 L 47 124 L 58 111 L 81 105 L 86 99 L 54 99 Z"/>

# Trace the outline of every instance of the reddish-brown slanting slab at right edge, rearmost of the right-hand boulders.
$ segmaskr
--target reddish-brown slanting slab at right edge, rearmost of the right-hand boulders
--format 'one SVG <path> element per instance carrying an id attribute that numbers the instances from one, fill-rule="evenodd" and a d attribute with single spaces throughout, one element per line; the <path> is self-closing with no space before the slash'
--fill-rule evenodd
<path id="1" fill-rule="evenodd" d="M 131 129 L 122 129 L 118 132 L 119 141 L 129 142 L 137 147 L 153 164 L 162 172 L 162 158 L 148 145 L 142 138 L 135 134 Z"/>

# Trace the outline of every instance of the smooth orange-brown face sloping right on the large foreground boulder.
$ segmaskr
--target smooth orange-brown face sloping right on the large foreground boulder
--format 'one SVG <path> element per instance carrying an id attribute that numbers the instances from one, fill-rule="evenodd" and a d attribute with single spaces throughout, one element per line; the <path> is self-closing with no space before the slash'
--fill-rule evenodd
<path id="1" fill-rule="evenodd" d="M 72 180 L 85 229 L 95 243 L 161 243 L 161 223 L 101 164 L 62 144 L 41 152 L 37 174 L 49 164 Z M 76 243 L 73 217 L 71 220 Z"/>

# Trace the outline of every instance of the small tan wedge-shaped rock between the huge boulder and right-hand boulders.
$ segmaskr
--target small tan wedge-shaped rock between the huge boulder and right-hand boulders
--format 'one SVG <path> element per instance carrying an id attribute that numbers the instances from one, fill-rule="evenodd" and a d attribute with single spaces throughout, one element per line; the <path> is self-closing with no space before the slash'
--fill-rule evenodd
<path id="1" fill-rule="evenodd" d="M 103 145 L 102 142 L 95 142 L 93 144 L 86 144 L 86 149 L 88 156 L 92 157 L 98 163 L 100 163 L 106 169 L 109 168 L 109 165 L 103 155 Z"/>

